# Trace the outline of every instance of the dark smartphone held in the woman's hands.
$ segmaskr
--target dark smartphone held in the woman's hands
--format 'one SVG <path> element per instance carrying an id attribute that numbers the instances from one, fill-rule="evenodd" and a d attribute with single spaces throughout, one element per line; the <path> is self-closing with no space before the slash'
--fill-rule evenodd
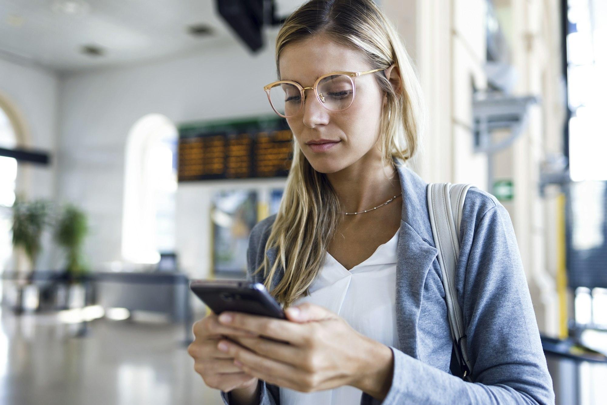
<path id="1" fill-rule="evenodd" d="M 191 280 L 190 289 L 211 310 L 287 319 L 280 304 L 262 283 L 245 280 Z"/>

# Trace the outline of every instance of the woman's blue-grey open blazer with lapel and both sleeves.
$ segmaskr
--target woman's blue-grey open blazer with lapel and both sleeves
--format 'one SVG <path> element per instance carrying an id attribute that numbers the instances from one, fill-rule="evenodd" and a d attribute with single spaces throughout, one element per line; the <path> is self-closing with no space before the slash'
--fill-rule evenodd
<path id="1" fill-rule="evenodd" d="M 510 216 L 494 196 L 480 189 L 470 189 L 464 202 L 456 270 L 474 383 L 452 374 L 453 345 L 426 203 L 427 183 L 399 159 L 396 163 L 403 192 L 396 265 L 399 347 L 390 346 L 394 369 L 387 396 L 380 402 L 362 393 L 361 405 L 554 404 Z M 265 252 L 275 218 L 253 227 L 247 251 L 249 279 L 264 254 L 271 263 L 276 260 L 276 247 Z M 272 286 L 282 274 L 280 268 Z M 280 404 L 279 387 L 260 384 L 259 404 Z M 221 396 L 229 405 L 227 393 L 222 391 Z"/>

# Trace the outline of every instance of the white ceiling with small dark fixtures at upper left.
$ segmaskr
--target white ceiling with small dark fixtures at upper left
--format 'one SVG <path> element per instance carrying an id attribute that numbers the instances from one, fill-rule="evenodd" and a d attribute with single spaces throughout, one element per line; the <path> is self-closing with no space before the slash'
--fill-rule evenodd
<path id="1" fill-rule="evenodd" d="M 275 0 L 285 16 L 302 0 Z M 192 36 L 204 24 L 211 35 Z M 273 32 L 276 28 L 269 28 Z M 215 0 L 0 0 L 0 58 L 55 71 L 131 64 L 233 44 L 249 50 L 215 12 Z M 103 55 L 81 52 L 100 47 Z"/>

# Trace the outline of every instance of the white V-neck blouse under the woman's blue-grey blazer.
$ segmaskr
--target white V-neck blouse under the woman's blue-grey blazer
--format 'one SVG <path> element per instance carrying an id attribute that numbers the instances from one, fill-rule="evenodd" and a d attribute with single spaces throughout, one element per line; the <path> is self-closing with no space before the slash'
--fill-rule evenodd
<path id="1" fill-rule="evenodd" d="M 325 264 L 310 286 L 310 295 L 300 297 L 293 305 L 311 302 L 324 306 L 359 333 L 398 348 L 395 286 L 399 233 L 400 229 L 350 271 L 327 252 Z M 280 387 L 279 392 L 281 405 L 358 404 L 362 395 L 351 386 L 317 392 Z"/>

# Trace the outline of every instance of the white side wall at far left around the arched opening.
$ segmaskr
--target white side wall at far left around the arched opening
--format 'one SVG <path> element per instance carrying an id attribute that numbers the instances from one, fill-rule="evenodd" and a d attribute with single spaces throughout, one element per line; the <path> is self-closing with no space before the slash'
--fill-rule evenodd
<path id="1" fill-rule="evenodd" d="M 19 165 L 17 192 L 30 199 L 55 196 L 58 88 L 58 77 L 52 71 L 26 61 L 0 58 L 0 97 L 23 125 L 19 144 L 48 151 L 52 159 L 50 166 Z M 56 264 L 56 252 L 49 249 L 48 236 L 43 239 L 39 268 Z"/>

